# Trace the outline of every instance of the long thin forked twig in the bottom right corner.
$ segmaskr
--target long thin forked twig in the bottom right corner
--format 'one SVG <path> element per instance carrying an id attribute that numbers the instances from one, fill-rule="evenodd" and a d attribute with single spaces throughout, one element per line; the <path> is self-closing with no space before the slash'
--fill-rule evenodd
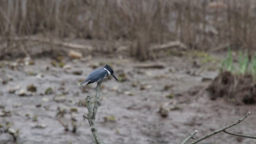
<path id="1" fill-rule="evenodd" d="M 198 138 L 197 140 L 195 140 L 194 142 L 191 142 L 190 144 L 196 144 L 196 143 L 200 142 L 201 140 L 204 140 L 204 139 L 206 139 L 206 138 L 208 138 L 208 137 L 210 137 L 210 136 L 212 136 L 214 134 L 218 134 L 219 132 L 226 132 L 227 134 L 232 134 L 232 135 L 235 135 L 235 136 L 243 136 L 243 137 L 246 137 L 246 138 L 255 138 L 255 136 L 236 134 L 236 133 L 231 133 L 231 132 L 227 132 L 226 131 L 226 129 L 231 128 L 232 126 L 235 126 L 235 125 L 239 124 L 240 122 L 242 122 L 249 115 L 250 115 L 250 112 L 248 112 L 243 118 L 239 119 L 237 122 L 235 122 L 233 124 L 230 124 L 229 126 L 221 128 L 219 130 L 215 130 L 214 132 L 212 132 L 210 134 L 206 134 L 205 136 L 202 136 L 201 138 Z M 182 142 L 182 144 L 186 144 L 186 143 Z"/>

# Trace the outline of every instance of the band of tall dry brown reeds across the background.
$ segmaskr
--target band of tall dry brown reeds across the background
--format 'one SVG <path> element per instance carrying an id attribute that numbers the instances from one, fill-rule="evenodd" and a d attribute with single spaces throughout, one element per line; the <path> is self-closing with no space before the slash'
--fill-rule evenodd
<path id="1" fill-rule="evenodd" d="M 255 0 L 1 0 L 0 57 L 38 45 L 14 37 L 38 34 L 104 40 L 106 52 L 126 41 L 140 60 L 150 58 L 150 44 L 172 40 L 191 49 L 251 50 L 255 10 Z"/>

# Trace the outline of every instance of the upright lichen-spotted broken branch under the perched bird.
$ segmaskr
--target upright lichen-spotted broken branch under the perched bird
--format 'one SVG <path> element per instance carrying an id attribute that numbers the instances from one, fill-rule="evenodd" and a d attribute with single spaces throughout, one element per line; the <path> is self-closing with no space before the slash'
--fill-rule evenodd
<path id="1" fill-rule="evenodd" d="M 97 87 L 96 87 L 96 96 L 95 96 L 95 102 L 94 106 L 92 106 L 91 103 L 91 97 L 88 95 L 86 96 L 86 106 L 88 109 L 88 114 L 87 117 L 83 116 L 84 118 L 88 119 L 90 128 L 92 131 L 93 139 L 95 144 L 103 144 L 102 141 L 100 140 L 98 128 L 95 125 L 95 116 L 98 110 L 98 106 L 100 104 L 100 85 L 102 82 L 98 82 Z"/>

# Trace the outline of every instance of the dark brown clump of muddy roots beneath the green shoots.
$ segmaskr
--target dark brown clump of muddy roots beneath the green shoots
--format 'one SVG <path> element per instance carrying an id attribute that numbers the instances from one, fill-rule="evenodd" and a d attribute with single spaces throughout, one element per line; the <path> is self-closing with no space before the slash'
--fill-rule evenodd
<path id="1" fill-rule="evenodd" d="M 256 83 L 251 75 L 238 76 L 225 71 L 220 73 L 206 90 L 212 100 L 223 97 L 236 104 L 256 102 Z"/>

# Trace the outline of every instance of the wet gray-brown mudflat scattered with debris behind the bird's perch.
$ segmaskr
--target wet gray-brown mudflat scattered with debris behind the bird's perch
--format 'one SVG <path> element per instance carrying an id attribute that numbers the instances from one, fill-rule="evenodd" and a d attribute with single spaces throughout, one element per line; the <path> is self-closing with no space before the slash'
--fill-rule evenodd
<path id="1" fill-rule="evenodd" d="M 142 63 L 120 56 L 93 56 L 85 62 L 69 58 L 65 60 L 71 66 L 70 70 L 52 66 L 52 59 L 46 57 L 34 59 L 35 65 L 21 66 L 14 70 L 3 66 L 0 69 L 0 78 L 13 78 L 7 84 L 0 84 L 0 102 L 4 105 L 1 111 L 10 110 L 7 116 L 1 113 L 0 124 L 13 123 L 11 128 L 20 132 L 18 144 L 93 144 L 88 121 L 82 117 L 87 114 L 87 108 L 81 104 L 78 106 L 78 101 L 83 101 L 87 94 L 94 96 L 96 84 L 91 84 L 85 90 L 87 92 L 82 92 L 84 86 L 80 86 L 79 81 L 93 70 L 92 65 L 106 62 L 112 64 L 117 76 L 123 70 L 128 80 L 117 82 L 109 78 L 102 83 L 96 124 L 105 144 L 180 144 L 189 132 L 198 130 L 194 137 L 199 138 L 236 122 L 249 110 L 251 115 L 230 128 L 230 131 L 256 135 L 255 105 L 234 105 L 222 98 L 213 101 L 202 91 L 210 84 L 208 79 L 218 74 L 218 66 L 214 67 L 212 62 L 201 63 L 200 58 L 186 55 L 165 56 L 153 62 L 163 64 L 164 68 L 145 69 L 135 68 L 134 65 L 152 61 Z M 47 66 L 49 70 L 46 70 Z M 76 70 L 82 70 L 82 75 L 72 74 Z M 20 86 L 26 90 L 30 84 L 37 88 L 32 96 L 18 96 L 18 92 L 8 92 L 8 86 Z M 52 94 L 44 94 L 48 87 L 54 88 Z M 62 96 L 62 99 L 57 102 L 56 96 Z M 167 117 L 158 113 L 161 105 L 171 108 Z M 64 117 L 56 116 L 58 107 L 66 109 Z M 77 108 L 78 111 L 70 112 L 70 108 Z M 76 133 L 71 132 L 70 113 L 76 114 L 77 123 L 83 124 Z M 64 131 L 58 120 L 68 122 L 70 130 Z M 33 124 L 46 127 L 33 128 Z M 15 142 L 10 134 L 1 133 L 0 143 Z M 256 140 L 220 133 L 201 142 L 231 143 L 256 144 Z"/>

